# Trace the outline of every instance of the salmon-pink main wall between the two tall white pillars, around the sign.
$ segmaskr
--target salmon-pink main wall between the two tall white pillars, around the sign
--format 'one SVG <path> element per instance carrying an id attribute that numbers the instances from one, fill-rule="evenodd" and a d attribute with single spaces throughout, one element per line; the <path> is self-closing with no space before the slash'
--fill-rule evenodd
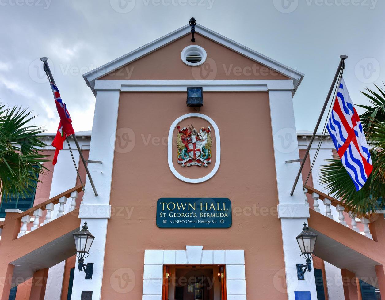
<path id="1" fill-rule="evenodd" d="M 177 179 L 167 163 L 169 128 L 190 112 L 195 110 L 186 107 L 186 93 L 121 93 L 101 298 L 142 298 L 144 250 L 203 245 L 206 250 L 244 249 L 248 298 L 287 299 L 268 93 L 204 94 L 200 113 L 219 127 L 221 165 L 213 178 L 199 184 Z M 193 177 L 200 172 L 198 166 L 188 168 L 184 172 Z M 228 197 L 233 225 L 158 228 L 161 197 Z M 122 268 L 135 273 L 128 294 L 110 284 Z"/>

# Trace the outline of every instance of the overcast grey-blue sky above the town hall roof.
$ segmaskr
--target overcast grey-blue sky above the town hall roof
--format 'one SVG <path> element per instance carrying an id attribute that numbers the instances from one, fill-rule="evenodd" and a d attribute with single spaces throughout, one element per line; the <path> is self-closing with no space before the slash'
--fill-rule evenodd
<path id="1" fill-rule="evenodd" d="M 82 74 L 187 24 L 198 23 L 305 78 L 297 130 L 313 130 L 339 63 L 353 101 L 385 81 L 385 1 L 0 0 L 0 102 L 29 107 L 56 132 L 59 117 L 39 58 L 47 56 L 75 131 L 92 129 L 95 97 Z M 362 110 L 358 110 L 362 112 Z M 108 116 L 106 116 L 108 117 Z"/>

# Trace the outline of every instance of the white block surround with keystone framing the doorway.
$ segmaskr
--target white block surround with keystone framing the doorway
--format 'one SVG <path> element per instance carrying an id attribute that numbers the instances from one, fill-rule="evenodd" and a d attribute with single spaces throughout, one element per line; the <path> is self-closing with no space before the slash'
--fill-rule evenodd
<path id="1" fill-rule="evenodd" d="M 162 299 L 163 265 L 226 265 L 227 298 L 246 300 L 244 250 L 145 250 L 142 300 Z"/>

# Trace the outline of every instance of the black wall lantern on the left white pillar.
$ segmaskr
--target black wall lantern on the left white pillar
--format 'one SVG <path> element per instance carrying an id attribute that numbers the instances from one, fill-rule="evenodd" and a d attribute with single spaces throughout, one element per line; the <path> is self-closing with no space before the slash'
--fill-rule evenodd
<path id="1" fill-rule="evenodd" d="M 89 251 L 94 242 L 94 236 L 88 231 L 87 222 L 84 223 L 82 230 L 73 233 L 76 245 L 76 256 L 79 258 L 79 271 L 84 270 L 85 279 L 92 279 L 92 272 L 94 270 L 93 263 L 84 264 L 84 258 L 89 257 Z"/>

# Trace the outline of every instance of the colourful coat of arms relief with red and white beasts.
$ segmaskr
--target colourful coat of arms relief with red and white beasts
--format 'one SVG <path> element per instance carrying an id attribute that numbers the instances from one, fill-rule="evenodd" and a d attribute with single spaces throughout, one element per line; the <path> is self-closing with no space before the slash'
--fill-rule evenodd
<path id="1" fill-rule="evenodd" d="M 202 127 L 198 130 L 191 125 L 189 128 L 177 127 L 178 163 L 182 167 L 197 165 L 207 167 L 211 163 L 211 128 Z"/>

